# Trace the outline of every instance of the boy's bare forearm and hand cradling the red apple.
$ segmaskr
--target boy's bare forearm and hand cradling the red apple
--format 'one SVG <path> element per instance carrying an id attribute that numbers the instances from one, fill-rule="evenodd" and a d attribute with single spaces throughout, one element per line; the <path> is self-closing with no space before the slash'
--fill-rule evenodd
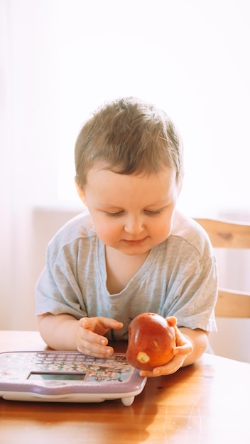
<path id="1" fill-rule="evenodd" d="M 141 376 L 153 377 L 177 372 L 180 367 L 193 364 L 205 352 L 208 343 L 208 333 L 195 328 L 175 327 L 176 347 L 174 357 L 168 364 L 156 367 L 152 371 L 141 370 Z"/>

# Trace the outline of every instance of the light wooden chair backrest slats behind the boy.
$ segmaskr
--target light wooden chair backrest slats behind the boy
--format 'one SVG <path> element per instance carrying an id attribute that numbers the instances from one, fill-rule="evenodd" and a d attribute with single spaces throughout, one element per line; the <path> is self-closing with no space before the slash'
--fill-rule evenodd
<path id="1" fill-rule="evenodd" d="M 207 231 L 213 248 L 250 249 L 250 223 L 231 223 L 202 218 L 195 218 L 195 221 Z M 250 293 L 219 288 L 215 316 L 250 318 Z"/>

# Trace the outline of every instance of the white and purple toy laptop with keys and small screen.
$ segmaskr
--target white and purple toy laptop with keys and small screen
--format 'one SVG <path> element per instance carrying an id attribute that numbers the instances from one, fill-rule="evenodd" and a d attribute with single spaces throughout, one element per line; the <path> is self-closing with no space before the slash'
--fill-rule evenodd
<path id="1" fill-rule="evenodd" d="M 79 352 L 0 353 L 0 397 L 16 401 L 102 402 L 121 399 L 130 406 L 146 377 L 124 354 L 108 358 Z"/>

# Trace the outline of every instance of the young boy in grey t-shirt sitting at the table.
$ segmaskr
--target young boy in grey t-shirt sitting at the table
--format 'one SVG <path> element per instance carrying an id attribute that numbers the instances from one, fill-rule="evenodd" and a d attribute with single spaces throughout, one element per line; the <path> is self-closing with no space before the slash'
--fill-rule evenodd
<path id="1" fill-rule="evenodd" d="M 104 104 L 75 144 L 75 183 L 86 209 L 48 245 L 36 287 L 50 347 L 107 357 L 143 312 L 177 318 L 176 348 L 148 377 L 195 362 L 216 331 L 217 268 L 202 228 L 175 211 L 183 146 L 164 111 L 134 97 Z"/>

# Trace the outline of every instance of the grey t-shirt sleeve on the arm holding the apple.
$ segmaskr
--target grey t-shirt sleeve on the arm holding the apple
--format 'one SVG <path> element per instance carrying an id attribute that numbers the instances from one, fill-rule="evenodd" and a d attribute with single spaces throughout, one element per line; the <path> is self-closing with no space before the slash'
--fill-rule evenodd
<path id="1" fill-rule="evenodd" d="M 217 262 L 212 248 L 207 244 L 200 256 L 192 245 L 185 243 L 179 250 L 179 257 L 168 282 L 162 315 L 175 316 L 178 327 L 217 331 L 214 318 Z"/>

